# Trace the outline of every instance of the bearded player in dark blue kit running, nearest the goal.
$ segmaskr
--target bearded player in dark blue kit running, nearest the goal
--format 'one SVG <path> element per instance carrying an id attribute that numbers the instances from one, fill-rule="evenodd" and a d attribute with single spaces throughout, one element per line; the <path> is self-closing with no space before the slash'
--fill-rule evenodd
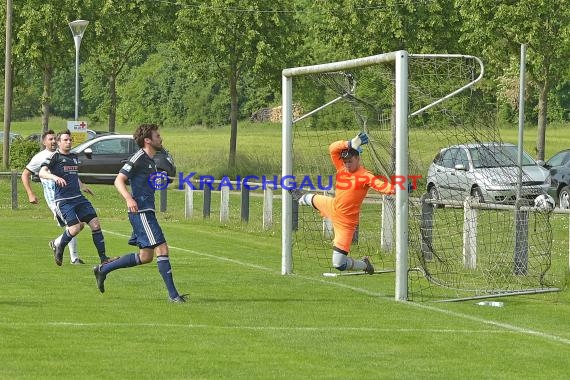
<path id="1" fill-rule="evenodd" d="M 129 221 L 133 227 L 133 237 L 129 243 L 136 241 L 139 253 L 128 253 L 113 262 L 95 266 L 93 273 L 97 287 L 101 293 L 105 292 L 105 279 L 109 272 L 150 263 L 156 254 L 158 271 L 164 280 L 170 301 L 186 302 L 186 295 L 179 294 L 174 286 L 168 244 L 154 212 L 154 191 L 159 185 L 156 180 L 162 178 L 152 159 L 156 151 L 162 149 L 158 126 L 142 124 L 135 131 L 134 138 L 141 149 L 121 168 L 115 179 L 115 187 L 127 202 Z M 132 194 L 127 189 L 128 182 Z"/>

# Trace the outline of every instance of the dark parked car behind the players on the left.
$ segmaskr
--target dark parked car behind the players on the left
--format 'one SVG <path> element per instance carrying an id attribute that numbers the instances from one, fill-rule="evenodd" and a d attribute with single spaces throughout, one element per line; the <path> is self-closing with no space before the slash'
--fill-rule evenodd
<path id="1" fill-rule="evenodd" d="M 78 155 L 82 182 L 107 184 L 114 182 L 119 170 L 137 150 L 139 147 L 132 135 L 113 134 L 96 137 L 71 149 Z M 166 149 L 157 152 L 154 161 L 159 171 L 165 171 L 169 177 L 176 175 L 176 165 Z"/>

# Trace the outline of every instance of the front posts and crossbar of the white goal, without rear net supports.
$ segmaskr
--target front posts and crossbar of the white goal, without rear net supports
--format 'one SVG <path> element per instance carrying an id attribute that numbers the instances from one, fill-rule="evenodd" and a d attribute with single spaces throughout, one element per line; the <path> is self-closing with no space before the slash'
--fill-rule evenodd
<path id="1" fill-rule="evenodd" d="M 396 72 L 396 173 L 408 175 L 407 118 L 408 118 L 408 53 L 404 50 L 347 61 L 284 69 L 282 72 L 282 178 L 293 176 L 293 78 L 325 72 L 345 71 L 352 68 L 393 62 Z M 281 273 L 293 271 L 292 199 L 282 188 L 282 265 Z M 407 299 L 408 272 L 408 193 L 396 192 L 396 295 L 397 300 Z"/>

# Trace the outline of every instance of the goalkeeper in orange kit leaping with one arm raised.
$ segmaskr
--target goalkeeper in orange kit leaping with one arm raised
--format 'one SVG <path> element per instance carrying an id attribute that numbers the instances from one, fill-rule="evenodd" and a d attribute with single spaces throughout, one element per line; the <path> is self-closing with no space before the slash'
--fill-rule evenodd
<path id="1" fill-rule="evenodd" d="M 394 194 L 394 186 L 364 168 L 360 162 L 361 146 L 368 143 L 366 133 L 359 133 L 349 141 L 336 141 L 329 146 L 329 153 L 336 168 L 335 196 L 303 193 L 292 190 L 291 195 L 300 205 L 313 206 L 321 216 L 333 223 L 334 240 L 332 264 L 339 271 L 363 270 L 374 273 L 370 258 L 360 260 L 349 257 L 352 236 L 358 225 L 360 207 L 369 188 Z M 381 177 L 386 179 L 385 177 Z"/>

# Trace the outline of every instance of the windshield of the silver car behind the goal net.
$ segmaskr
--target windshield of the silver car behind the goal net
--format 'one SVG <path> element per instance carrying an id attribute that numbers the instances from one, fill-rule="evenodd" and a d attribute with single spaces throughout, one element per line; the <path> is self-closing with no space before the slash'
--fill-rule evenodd
<path id="1" fill-rule="evenodd" d="M 511 145 L 481 145 L 469 148 L 475 168 L 497 168 L 517 166 L 518 148 Z M 522 166 L 536 165 L 535 161 L 523 152 Z"/>

